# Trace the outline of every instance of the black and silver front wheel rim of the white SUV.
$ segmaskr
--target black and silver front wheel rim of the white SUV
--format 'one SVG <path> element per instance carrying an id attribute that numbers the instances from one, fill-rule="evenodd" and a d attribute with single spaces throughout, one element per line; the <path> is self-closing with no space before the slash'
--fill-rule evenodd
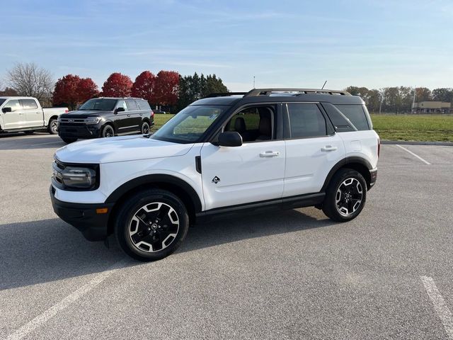
<path id="1" fill-rule="evenodd" d="M 149 203 L 134 213 L 127 231 L 135 248 L 154 253 L 175 241 L 179 217 L 176 210 L 166 203 Z"/>

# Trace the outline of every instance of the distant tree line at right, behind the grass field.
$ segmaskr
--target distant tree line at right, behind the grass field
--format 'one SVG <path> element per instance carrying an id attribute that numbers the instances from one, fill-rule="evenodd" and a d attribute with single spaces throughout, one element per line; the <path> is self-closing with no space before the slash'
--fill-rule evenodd
<path id="1" fill-rule="evenodd" d="M 415 90 L 415 98 L 414 98 Z M 362 97 L 369 112 L 373 113 L 411 113 L 412 103 L 420 101 L 444 101 L 453 103 L 452 88 L 430 90 L 426 87 L 395 86 L 383 89 L 349 86 L 345 89 L 353 96 Z"/>

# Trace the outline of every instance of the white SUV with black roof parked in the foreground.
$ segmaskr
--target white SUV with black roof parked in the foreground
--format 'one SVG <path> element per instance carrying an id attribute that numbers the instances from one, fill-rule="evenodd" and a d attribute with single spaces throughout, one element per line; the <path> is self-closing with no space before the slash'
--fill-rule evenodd
<path id="1" fill-rule="evenodd" d="M 50 196 L 86 239 L 114 233 L 127 254 L 150 261 L 213 215 L 314 205 L 332 220 L 352 220 L 376 181 L 378 157 L 360 97 L 253 89 L 195 101 L 153 135 L 57 150 Z"/>

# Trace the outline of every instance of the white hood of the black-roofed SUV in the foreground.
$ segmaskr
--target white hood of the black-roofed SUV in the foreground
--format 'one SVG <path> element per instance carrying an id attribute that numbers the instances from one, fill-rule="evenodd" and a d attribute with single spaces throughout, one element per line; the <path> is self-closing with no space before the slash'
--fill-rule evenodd
<path id="1" fill-rule="evenodd" d="M 183 156 L 191 147 L 193 144 L 163 142 L 135 135 L 74 142 L 58 149 L 55 156 L 64 163 L 102 164 Z"/>

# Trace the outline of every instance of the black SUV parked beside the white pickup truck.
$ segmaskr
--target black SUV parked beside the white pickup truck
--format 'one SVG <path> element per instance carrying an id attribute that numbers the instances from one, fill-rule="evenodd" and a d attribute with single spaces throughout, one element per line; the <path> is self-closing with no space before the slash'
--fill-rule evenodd
<path id="1" fill-rule="evenodd" d="M 58 135 L 64 142 L 79 138 L 149 133 L 154 113 L 142 98 L 93 98 L 77 111 L 60 115 Z"/>

